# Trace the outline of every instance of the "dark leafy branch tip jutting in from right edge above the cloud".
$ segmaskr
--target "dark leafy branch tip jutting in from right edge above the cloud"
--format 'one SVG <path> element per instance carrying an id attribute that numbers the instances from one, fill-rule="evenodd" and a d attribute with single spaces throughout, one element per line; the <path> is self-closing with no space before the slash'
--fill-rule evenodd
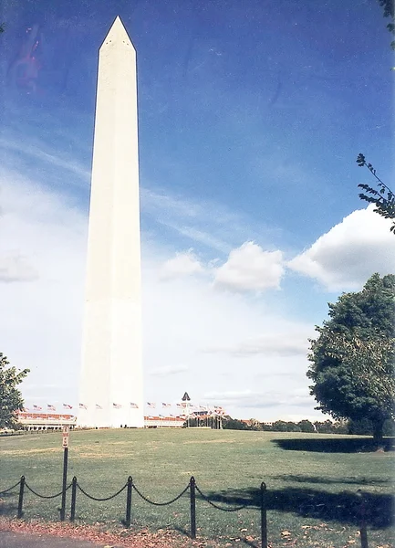
<path id="1" fill-rule="evenodd" d="M 363 190 L 367 193 L 360 193 L 359 198 L 361 200 L 365 200 L 365 202 L 369 202 L 369 204 L 376 205 L 376 208 L 374 211 L 378 213 L 380 216 L 385 217 L 386 219 L 394 219 L 395 218 L 395 196 L 391 189 L 384 184 L 381 179 L 379 179 L 378 175 L 376 174 L 376 170 L 374 169 L 373 165 L 371 163 L 367 163 L 365 156 L 362 153 L 359 153 L 357 158 L 357 163 L 359 164 L 359 167 L 367 167 L 369 169 L 369 172 L 375 177 L 377 180 L 377 189 L 373 188 L 372 186 L 369 186 L 369 184 L 359 184 L 359 188 L 363 188 Z M 390 231 L 395 233 L 395 222 L 390 227 Z"/>

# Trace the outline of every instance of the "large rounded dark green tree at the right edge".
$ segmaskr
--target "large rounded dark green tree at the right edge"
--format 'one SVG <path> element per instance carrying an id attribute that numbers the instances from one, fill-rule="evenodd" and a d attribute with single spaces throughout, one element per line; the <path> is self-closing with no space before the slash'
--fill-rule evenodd
<path id="1" fill-rule="evenodd" d="M 307 377 L 317 409 L 335 418 L 369 418 L 382 437 L 394 417 L 395 276 L 374 274 L 363 290 L 329 304 L 329 320 L 310 340 Z"/>

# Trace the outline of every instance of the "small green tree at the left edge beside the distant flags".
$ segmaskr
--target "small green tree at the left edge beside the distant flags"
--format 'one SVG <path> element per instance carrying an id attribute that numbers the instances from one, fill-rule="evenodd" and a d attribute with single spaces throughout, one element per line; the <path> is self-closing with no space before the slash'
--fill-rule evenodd
<path id="1" fill-rule="evenodd" d="M 18 371 L 11 367 L 7 358 L 0 353 L 0 427 L 13 427 L 16 413 L 24 406 L 22 395 L 16 386 L 20 385 L 29 370 Z"/>

